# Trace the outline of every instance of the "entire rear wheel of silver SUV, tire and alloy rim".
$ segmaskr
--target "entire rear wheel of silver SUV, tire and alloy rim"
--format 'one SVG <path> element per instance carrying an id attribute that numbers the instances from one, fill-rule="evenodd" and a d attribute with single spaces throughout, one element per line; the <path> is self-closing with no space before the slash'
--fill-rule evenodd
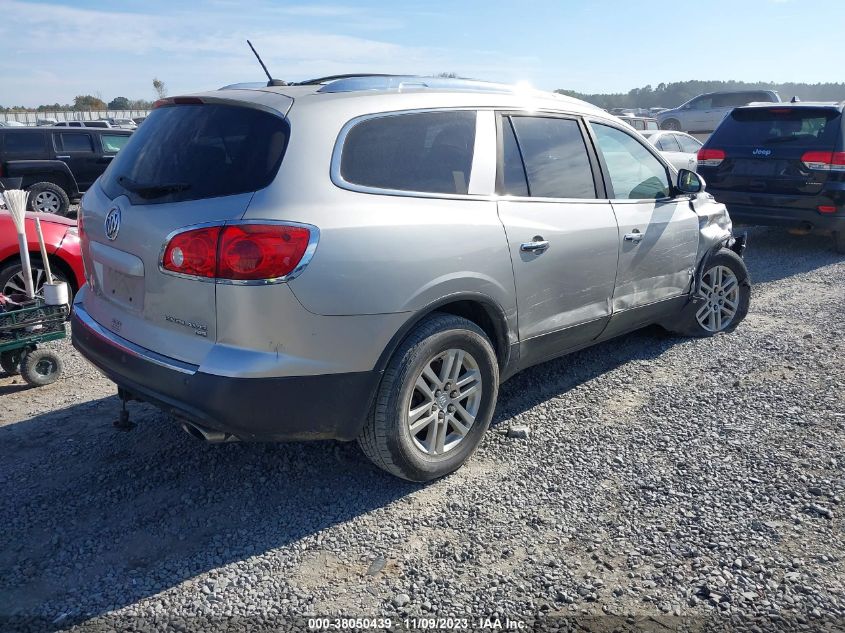
<path id="1" fill-rule="evenodd" d="M 358 444 L 378 467 L 432 481 L 478 448 L 496 406 L 499 366 L 475 323 L 433 314 L 396 350 Z"/>

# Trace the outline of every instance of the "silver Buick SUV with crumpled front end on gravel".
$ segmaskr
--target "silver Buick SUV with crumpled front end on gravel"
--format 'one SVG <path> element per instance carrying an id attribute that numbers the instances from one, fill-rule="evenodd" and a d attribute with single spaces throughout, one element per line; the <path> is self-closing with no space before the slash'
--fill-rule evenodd
<path id="1" fill-rule="evenodd" d="M 357 439 L 427 481 L 516 372 L 739 324 L 743 240 L 702 187 L 602 110 L 497 84 L 170 98 L 82 201 L 73 342 L 197 437 Z"/>

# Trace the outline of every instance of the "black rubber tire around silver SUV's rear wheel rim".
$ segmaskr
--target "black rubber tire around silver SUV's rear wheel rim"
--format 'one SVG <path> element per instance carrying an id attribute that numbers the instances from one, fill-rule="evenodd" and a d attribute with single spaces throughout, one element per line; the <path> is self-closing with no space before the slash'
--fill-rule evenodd
<path id="1" fill-rule="evenodd" d="M 452 349 L 468 352 L 477 364 L 480 404 L 463 439 L 454 448 L 432 455 L 415 444 L 407 424 L 407 408 L 417 396 L 415 383 L 425 366 L 436 362 L 433 359 L 438 354 Z M 391 358 L 358 444 L 376 466 L 392 475 L 418 482 L 438 479 L 457 470 L 478 448 L 490 426 L 498 391 L 496 353 L 484 331 L 462 317 L 432 314 L 408 335 Z M 432 402 L 431 411 L 435 411 L 435 406 Z M 449 428 L 447 425 L 447 432 Z"/>

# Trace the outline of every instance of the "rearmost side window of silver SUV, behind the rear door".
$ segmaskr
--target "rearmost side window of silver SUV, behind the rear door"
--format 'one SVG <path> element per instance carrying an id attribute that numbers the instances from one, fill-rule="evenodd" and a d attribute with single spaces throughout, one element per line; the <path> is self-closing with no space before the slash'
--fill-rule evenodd
<path id="1" fill-rule="evenodd" d="M 427 193 L 467 193 L 475 112 L 380 116 L 346 135 L 340 173 L 352 184 Z"/>

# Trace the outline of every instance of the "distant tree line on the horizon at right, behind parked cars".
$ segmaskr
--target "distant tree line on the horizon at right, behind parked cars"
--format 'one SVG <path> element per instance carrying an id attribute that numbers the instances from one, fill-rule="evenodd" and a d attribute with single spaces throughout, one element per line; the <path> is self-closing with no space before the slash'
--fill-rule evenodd
<path id="1" fill-rule="evenodd" d="M 674 108 L 686 103 L 704 92 L 722 90 L 777 90 L 780 98 L 789 101 L 798 97 L 802 101 L 843 101 L 845 83 L 771 83 L 745 81 L 679 81 L 661 83 L 657 88 L 650 84 L 644 88 L 634 88 L 626 93 L 584 94 L 574 90 L 558 89 L 555 92 L 576 99 L 582 99 L 609 110 L 610 108 Z"/>

